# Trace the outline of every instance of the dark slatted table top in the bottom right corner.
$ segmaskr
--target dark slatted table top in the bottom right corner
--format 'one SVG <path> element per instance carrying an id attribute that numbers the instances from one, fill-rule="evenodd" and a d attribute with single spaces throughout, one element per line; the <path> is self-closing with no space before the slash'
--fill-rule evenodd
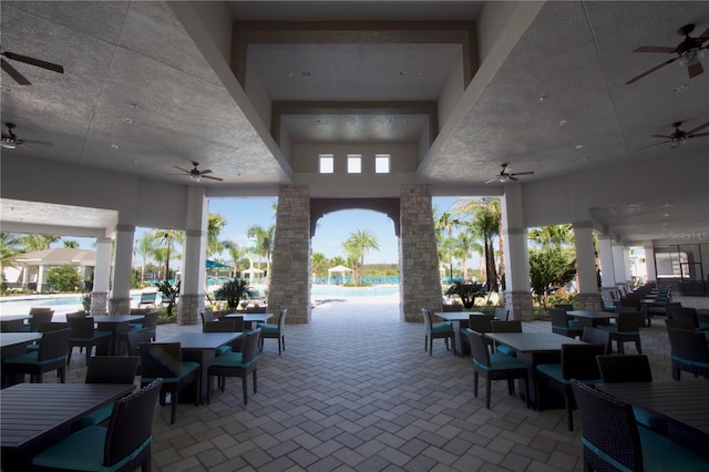
<path id="1" fill-rule="evenodd" d="M 600 383 L 596 388 L 709 435 L 709 381 Z"/>

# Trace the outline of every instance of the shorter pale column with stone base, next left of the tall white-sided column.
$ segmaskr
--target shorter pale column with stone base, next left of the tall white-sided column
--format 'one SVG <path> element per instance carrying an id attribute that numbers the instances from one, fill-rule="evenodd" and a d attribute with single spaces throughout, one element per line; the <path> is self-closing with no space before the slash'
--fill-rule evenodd
<path id="1" fill-rule="evenodd" d="M 135 226 L 116 225 L 115 261 L 113 264 L 113 296 L 109 314 L 125 315 L 131 312 L 131 274 L 133 270 L 133 238 Z"/>

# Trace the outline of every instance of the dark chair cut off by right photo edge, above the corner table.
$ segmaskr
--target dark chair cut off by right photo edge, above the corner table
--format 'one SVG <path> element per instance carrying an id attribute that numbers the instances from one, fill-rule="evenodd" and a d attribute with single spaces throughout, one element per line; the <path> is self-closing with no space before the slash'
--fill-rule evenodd
<path id="1" fill-rule="evenodd" d="M 703 331 L 667 328 L 672 357 L 672 379 L 680 380 L 681 371 L 709 380 L 709 347 Z"/>

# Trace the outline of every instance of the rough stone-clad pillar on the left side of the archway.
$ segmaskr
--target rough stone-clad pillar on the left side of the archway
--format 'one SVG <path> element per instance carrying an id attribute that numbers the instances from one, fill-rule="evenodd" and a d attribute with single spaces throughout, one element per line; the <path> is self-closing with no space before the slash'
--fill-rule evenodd
<path id="1" fill-rule="evenodd" d="M 286 322 L 310 322 L 310 192 L 287 185 L 278 192 L 268 310 L 288 308 Z"/>

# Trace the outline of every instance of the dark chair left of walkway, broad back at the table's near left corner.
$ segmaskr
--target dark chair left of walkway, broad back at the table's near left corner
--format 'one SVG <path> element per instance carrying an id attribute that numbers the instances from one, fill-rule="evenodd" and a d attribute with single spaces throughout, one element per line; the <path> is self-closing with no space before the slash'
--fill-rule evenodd
<path id="1" fill-rule="evenodd" d="M 198 362 L 183 362 L 179 342 L 151 342 L 141 345 L 141 386 L 162 379 L 160 404 L 165 406 L 171 394 L 169 424 L 175 424 L 179 392 L 191 383 L 195 387 L 195 406 L 199 404 Z"/>

